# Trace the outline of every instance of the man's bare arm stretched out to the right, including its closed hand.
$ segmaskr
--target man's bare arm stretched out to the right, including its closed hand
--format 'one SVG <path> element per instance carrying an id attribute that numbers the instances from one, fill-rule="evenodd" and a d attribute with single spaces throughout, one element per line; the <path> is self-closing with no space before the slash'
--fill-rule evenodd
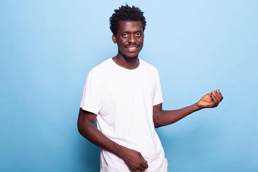
<path id="1" fill-rule="evenodd" d="M 188 107 L 172 110 L 172 111 L 164 111 L 162 110 L 162 103 L 153 106 L 153 123 L 155 128 L 170 125 L 187 115 L 192 114 L 193 112 L 199 111 L 203 108 L 215 108 L 222 101 L 223 96 L 220 90 L 211 91 L 208 94 L 205 94 L 201 97 L 201 99 Z"/>

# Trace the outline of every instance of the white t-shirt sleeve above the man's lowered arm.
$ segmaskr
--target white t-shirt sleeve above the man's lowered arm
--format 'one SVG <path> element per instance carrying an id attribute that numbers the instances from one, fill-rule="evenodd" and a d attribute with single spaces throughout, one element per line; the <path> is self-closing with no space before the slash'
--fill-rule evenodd
<path id="1" fill-rule="evenodd" d="M 98 114 L 102 108 L 100 86 L 92 73 L 88 73 L 85 81 L 80 108 Z"/>

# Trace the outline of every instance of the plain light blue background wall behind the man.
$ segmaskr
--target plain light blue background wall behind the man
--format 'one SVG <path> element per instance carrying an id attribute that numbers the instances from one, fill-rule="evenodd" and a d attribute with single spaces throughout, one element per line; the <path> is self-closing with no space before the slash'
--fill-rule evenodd
<path id="1" fill-rule="evenodd" d="M 0 171 L 97 172 L 77 130 L 87 72 L 114 57 L 109 17 L 126 1 L 0 0 Z M 171 172 L 258 171 L 258 1 L 130 0 L 147 20 L 140 57 L 166 110 L 224 100 L 157 129 Z"/>

